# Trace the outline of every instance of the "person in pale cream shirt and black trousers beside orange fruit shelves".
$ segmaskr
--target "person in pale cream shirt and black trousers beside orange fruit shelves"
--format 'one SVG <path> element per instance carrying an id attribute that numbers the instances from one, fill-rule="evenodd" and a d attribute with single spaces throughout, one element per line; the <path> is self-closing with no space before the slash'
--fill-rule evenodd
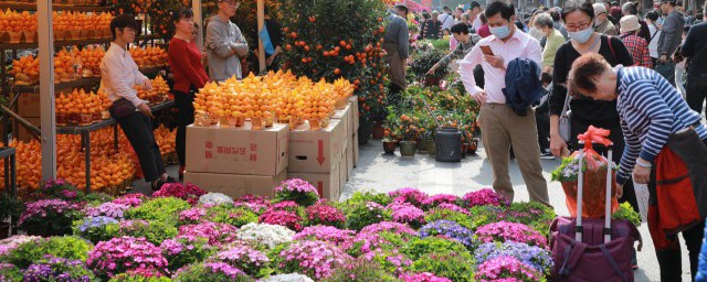
<path id="1" fill-rule="evenodd" d="M 108 99 L 114 101 L 110 115 L 118 121 L 137 153 L 145 181 L 151 184 L 154 191 L 157 191 L 165 183 L 173 182 L 173 178 L 167 175 L 162 154 L 155 142 L 150 123 L 152 111 L 146 101 L 137 97 L 137 90 L 134 88 L 135 86 L 146 90 L 152 88 L 150 79 L 138 70 L 137 64 L 126 50 L 128 44 L 135 41 L 138 25 L 133 17 L 122 14 L 110 21 L 110 31 L 113 42 L 101 61 L 103 75 L 101 89 L 108 95 Z M 129 109 L 130 105 L 135 108 L 134 111 L 120 111 L 120 109 Z"/>

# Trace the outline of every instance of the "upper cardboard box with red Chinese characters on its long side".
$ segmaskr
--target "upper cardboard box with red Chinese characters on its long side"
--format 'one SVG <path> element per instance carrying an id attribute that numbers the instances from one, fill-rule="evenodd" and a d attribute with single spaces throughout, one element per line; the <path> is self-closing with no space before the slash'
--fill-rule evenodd
<path id="1" fill-rule="evenodd" d="M 187 128 L 187 171 L 275 176 L 287 169 L 287 124 Z"/>

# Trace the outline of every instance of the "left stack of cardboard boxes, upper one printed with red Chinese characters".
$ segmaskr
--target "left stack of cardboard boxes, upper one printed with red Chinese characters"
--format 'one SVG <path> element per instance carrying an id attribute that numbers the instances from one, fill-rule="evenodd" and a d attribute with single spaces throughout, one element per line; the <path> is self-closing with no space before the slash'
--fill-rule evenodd
<path id="1" fill-rule="evenodd" d="M 272 196 L 287 177 L 287 124 L 251 130 L 242 128 L 187 128 L 184 182 L 205 191 L 239 197 Z"/>

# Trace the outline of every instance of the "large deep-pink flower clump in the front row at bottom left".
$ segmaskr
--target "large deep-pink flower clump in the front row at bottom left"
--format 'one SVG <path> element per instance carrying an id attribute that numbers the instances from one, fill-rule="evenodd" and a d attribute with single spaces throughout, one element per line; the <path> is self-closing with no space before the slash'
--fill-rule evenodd
<path id="1" fill-rule="evenodd" d="M 167 271 L 167 259 L 159 247 L 145 238 L 119 237 L 102 241 L 88 252 L 86 265 L 96 275 L 108 279 L 128 271 Z"/>

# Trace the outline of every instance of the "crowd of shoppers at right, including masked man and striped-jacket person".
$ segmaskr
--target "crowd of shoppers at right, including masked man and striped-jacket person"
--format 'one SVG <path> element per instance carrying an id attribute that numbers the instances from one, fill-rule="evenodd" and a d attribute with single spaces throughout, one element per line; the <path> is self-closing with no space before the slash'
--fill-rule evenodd
<path id="1" fill-rule="evenodd" d="M 577 135 L 594 126 L 611 131 L 613 162 L 621 164 L 616 177 L 620 202 L 629 202 L 637 210 L 634 187 L 642 187 L 651 191 L 650 205 L 679 200 L 674 204 L 680 208 L 696 203 L 696 209 L 707 210 L 707 199 L 701 198 L 707 195 L 707 180 L 703 180 L 707 170 L 707 129 L 703 122 L 707 100 L 707 23 L 703 21 L 707 20 L 707 4 L 701 11 L 685 12 L 676 0 L 661 0 L 654 7 L 568 1 L 563 8 L 536 9 L 525 18 L 504 0 L 489 1 L 486 7 L 472 1 L 467 8 L 452 13 L 445 7 L 442 13 L 432 12 L 433 19 L 454 19 L 456 24 L 451 26 L 424 19 L 421 24 L 434 23 L 442 29 L 441 34 L 451 29 L 453 39 L 460 42 L 430 73 L 458 59 L 466 91 L 482 105 L 478 123 L 498 193 L 513 198 L 510 150 L 530 199 L 549 204 L 539 160 L 566 156 L 578 149 Z M 439 37 L 423 31 L 418 39 Z M 535 62 L 542 74 L 507 73 L 517 62 Z M 483 79 L 475 76 L 475 68 L 483 69 Z M 547 96 L 526 115 L 519 115 L 502 91 L 507 75 L 540 79 Z M 562 124 L 569 132 L 563 133 L 560 117 L 569 112 L 569 124 Z M 675 170 L 665 165 L 671 158 L 679 159 L 690 172 L 689 192 L 694 195 L 666 188 L 662 177 Z M 656 189 L 669 192 L 656 194 Z M 688 218 L 687 212 L 678 213 L 677 218 L 662 216 L 650 218 L 652 234 L 659 232 L 655 226 L 661 223 L 685 221 L 679 221 L 674 234 L 664 236 L 665 240 L 654 237 L 661 280 L 680 281 L 677 232 L 685 239 L 695 278 L 707 213 L 694 218 Z M 707 259 L 707 246 L 701 248 Z M 637 268 L 635 251 L 633 258 Z M 698 275 L 704 276 L 707 273 Z"/>

